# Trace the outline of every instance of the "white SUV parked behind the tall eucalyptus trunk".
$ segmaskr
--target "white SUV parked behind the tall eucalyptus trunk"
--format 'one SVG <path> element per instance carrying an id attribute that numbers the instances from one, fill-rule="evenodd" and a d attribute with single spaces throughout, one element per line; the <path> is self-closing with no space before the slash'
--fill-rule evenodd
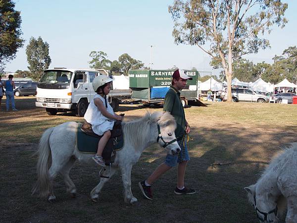
<path id="1" fill-rule="evenodd" d="M 221 98 L 223 101 L 227 101 L 227 89 L 222 92 Z M 232 88 L 232 101 L 264 103 L 268 102 L 269 98 L 249 88 Z"/>

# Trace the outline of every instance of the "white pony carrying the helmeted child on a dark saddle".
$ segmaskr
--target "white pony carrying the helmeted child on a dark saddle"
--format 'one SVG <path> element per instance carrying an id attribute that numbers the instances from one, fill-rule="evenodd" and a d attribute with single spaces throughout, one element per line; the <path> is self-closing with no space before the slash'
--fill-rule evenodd
<path id="1" fill-rule="evenodd" d="M 67 192 L 75 197 L 76 187 L 69 177 L 70 169 L 75 161 L 94 163 L 91 159 L 94 155 L 81 153 L 76 147 L 77 126 L 77 122 L 65 122 L 47 129 L 42 135 L 38 150 L 38 179 L 32 190 L 33 194 L 39 191 L 41 197 L 54 201 L 53 180 L 60 173 L 65 181 Z M 116 152 L 115 162 L 112 164 L 109 174 L 110 176 L 114 174 L 117 168 L 121 170 L 124 200 L 126 203 L 134 204 L 137 199 L 131 191 L 131 169 L 139 160 L 143 150 L 157 141 L 159 145 L 168 150 L 169 154 L 177 154 L 181 149 L 174 134 L 175 119 L 168 112 L 147 113 L 143 118 L 123 122 L 122 129 L 124 146 Z M 99 170 L 98 166 L 97 169 Z M 97 170 L 94 168 L 94 171 Z M 98 200 L 99 192 L 106 181 L 108 178 L 100 178 L 99 184 L 91 191 L 93 201 Z"/>

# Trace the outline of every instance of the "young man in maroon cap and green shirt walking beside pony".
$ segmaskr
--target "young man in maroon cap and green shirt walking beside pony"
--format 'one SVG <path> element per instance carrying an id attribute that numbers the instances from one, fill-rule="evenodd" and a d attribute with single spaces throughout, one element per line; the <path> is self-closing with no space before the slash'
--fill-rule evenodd
<path id="1" fill-rule="evenodd" d="M 179 90 L 185 88 L 187 80 L 192 80 L 184 70 L 178 69 L 172 75 L 171 85 L 164 99 L 163 111 L 170 112 L 174 116 L 177 128 L 175 136 L 180 145 L 181 152 L 178 155 L 167 155 L 165 162 L 157 167 L 147 180 L 139 182 L 143 195 L 152 200 L 151 185 L 171 167 L 177 167 L 177 186 L 174 190 L 175 194 L 194 194 L 196 190 L 185 187 L 184 178 L 187 163 L 190 160 L 187 144 L 185 140 L 186 133 L 190 133 L 190 125 L 186 120 L 185 111 L 181 102 Z"/>

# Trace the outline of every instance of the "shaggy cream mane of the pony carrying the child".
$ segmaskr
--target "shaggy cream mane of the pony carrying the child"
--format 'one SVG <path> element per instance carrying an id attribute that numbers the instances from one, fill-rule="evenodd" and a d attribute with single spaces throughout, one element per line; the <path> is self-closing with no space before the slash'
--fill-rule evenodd
<path id="1" fill-rule="evenodd" d="M 151 123 L 158 123 L 159 125 L 172 125 L 176 128 L 176 122 L 174 117 L 169 113 L 162 111 L 156 111 L 150 113 L 147 111 L 144 117 L 135 119 L 133 121 L 122 122 L 123 132 L 125 133 L 125 141 L 129 142 L 135 148 L 141 147 L 147 143 L 147 137 L 149 134 L 149 125 Z"/>

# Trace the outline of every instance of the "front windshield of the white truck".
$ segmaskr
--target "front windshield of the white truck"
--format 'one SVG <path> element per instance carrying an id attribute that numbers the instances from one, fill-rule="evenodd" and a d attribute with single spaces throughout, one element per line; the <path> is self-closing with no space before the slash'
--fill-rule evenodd
<path id="1" fill-rule="evenodd" d="M 66 70 L 46 70 L 41 77 L 41 84 L 66 84 L 69 85 L 72 77 L 72 72 Z"/>

